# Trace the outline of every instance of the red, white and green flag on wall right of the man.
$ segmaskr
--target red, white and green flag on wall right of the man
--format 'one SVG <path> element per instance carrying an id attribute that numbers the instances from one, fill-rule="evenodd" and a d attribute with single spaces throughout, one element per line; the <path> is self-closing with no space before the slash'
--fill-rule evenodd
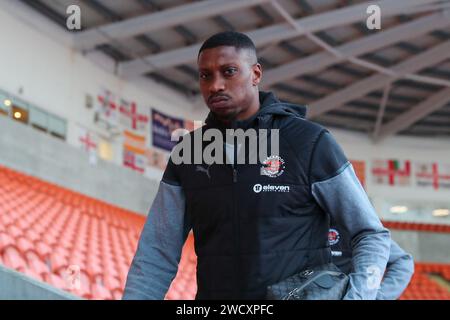
<path id="1" fill-rule="evenodd" d="M 372 177 L 375 184 L 409 186 L 411 184 L 411 162 L 409 160 L 372 161 Z"/>

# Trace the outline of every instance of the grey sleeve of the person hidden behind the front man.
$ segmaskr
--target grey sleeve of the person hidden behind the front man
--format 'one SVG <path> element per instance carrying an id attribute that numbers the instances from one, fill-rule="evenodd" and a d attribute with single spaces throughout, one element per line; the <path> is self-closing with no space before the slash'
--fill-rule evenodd
<path id="1" fill-rule="evenodd" d="M 391 241 L 391 253 L 377 300 L 396 300 L 409 284 L 414 273 L 413 257 Z"/>

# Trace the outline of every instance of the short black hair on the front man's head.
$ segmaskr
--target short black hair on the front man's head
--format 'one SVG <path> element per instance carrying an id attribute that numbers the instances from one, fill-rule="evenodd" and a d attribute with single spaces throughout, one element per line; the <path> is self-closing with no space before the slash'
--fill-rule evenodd
<path id="1" fill-rule="evenodd" d="M 220 46 L 235 47 L 238 50 L 249 50 L 254 54 L 256 58 L 256 47 L 252 39 L 250 39 L 249 36 L 236 31 L 219 32 L 206 39 L 206 41 L 203 42 L 200 50 L 198 51 L 197 58 L 200 56 L 200 53 L 203 50 Z"/>

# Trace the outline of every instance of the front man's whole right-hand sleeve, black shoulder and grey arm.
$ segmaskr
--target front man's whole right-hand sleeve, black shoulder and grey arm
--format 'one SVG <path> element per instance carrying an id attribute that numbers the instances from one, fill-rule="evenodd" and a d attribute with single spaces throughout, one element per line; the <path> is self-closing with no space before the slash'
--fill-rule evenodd
<path id="1" fill-rule="evenodd" d="M 317 203 L 350 236 L 352 272 L 344 299 L 376 299 L 389 257 L 390 233 L 381 224 L 352 165 L 327 131 L 313 149 L 310 183 Z"/>

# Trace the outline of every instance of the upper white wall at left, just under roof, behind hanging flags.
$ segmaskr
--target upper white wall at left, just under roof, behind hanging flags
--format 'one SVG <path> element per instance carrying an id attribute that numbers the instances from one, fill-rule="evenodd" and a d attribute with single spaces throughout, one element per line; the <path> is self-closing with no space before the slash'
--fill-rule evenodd
<path id="1" fill-rule="evenodd" d="M 97 66 L 93 60 L 99 62 L 99 57 L 83 56 L 62 44 L 60 39 L 52 38 L 54 35 L 45 33 L 45 23 L 49 22 L 42 22 L 37 14 L 31 19 L 26 9 L 13 11 L 5 2 L 0 5 L 0 92 L 66 119 L 69 144 L 80 144 L 80 129 L 88 130 L 98 139 L 109 136 L 102 125 L 94 123 L 97 96 L 103 90 L 109 90 L 117 104 L 120 99 L 135 102 L 138 113 L 146 116 L 150 116 L 151 108 L 185 119 L 192 115 L 193 104 L 185 97 L 150 79 L 145 80 L 145 84 L 150 85 L 143 85 L 143 81 L 133 82 L 115 76 L 104 70 L 114 67 L 108 58 L 102 56 L 102 67 Z M 86 108 L 87 95 L 93 98 L 91 109 Z M 147 126 L 137 133 L 145 135 L 146 144 L 151 146 L 149 129 Z M 113 161 L 122 164 L 121 135 L 107 139 L 107 142 L 112 147 Z M 147 175 L 159 179 L 161 171 L 150 170 Z"/>

